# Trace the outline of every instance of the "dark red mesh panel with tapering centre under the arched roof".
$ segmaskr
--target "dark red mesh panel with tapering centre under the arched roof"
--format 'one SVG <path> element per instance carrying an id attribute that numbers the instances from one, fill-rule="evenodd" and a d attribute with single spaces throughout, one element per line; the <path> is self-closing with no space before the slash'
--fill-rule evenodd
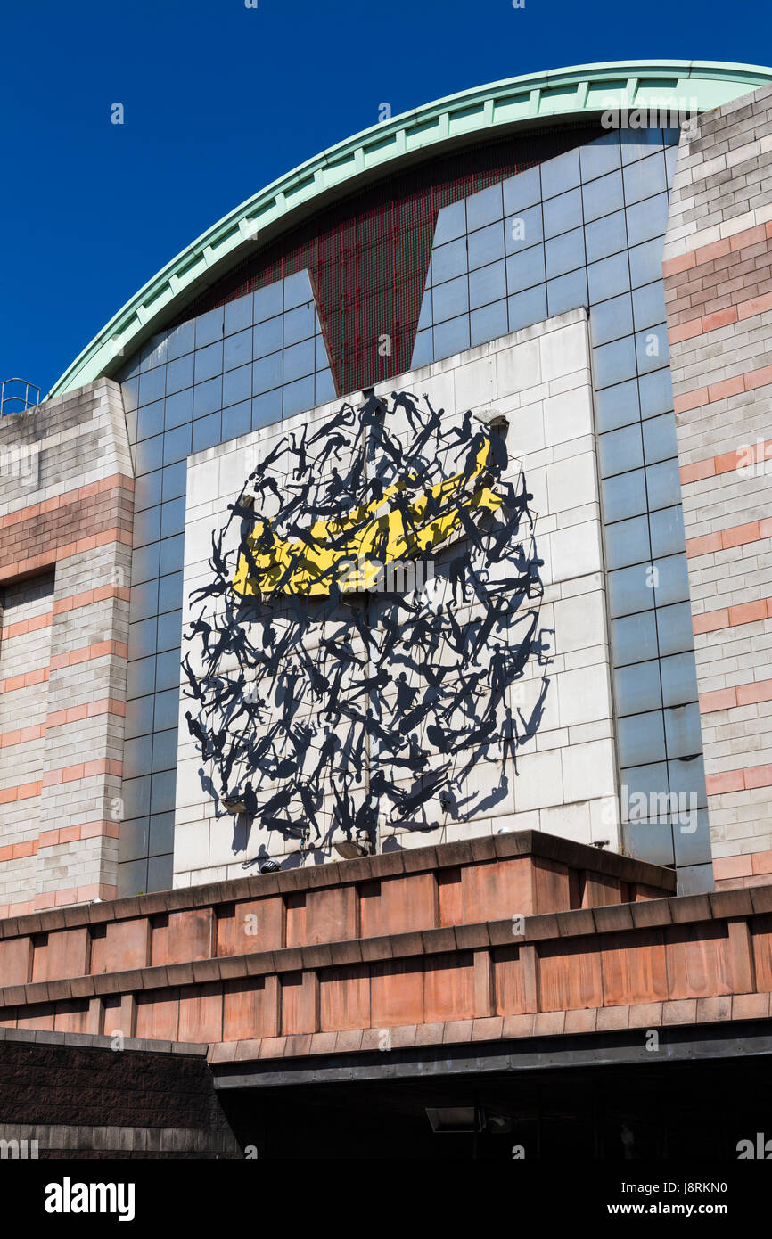
<path id="1" fill-rule="evenodd" d="M 428 159 L 258 250 L 195 301 L 185 318 L 307 268 L 338 393 L 400 374 L 410 367 L 437 211 L 599 133 L 563 126 Z M 390 356 L 379 356 L 382 336 L 390 337 Z"/>

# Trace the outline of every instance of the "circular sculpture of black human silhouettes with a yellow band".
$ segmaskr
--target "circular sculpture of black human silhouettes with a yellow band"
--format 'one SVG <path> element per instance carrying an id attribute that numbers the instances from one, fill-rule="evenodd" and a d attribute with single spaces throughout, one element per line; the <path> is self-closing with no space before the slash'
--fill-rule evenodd
<path id="1" fill-rule="evenodd" d="M 323 854 L 512 808 L 549 683 L 530 498 L 501 426 L 426 396 L 276 436 L 185 634 L 218 813 Z"/>

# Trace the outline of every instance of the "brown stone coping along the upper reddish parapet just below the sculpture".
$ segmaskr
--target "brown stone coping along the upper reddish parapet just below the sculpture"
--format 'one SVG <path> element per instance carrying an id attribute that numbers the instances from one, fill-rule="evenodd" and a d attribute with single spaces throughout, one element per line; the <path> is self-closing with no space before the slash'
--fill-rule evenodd
<path id="1" fill-rule="evenodd" d="M 373 878 L 398 877 L 403 873 L 421 873 L 435 869 L 473 865 L 513 856 L 533 856 L 558 861 L 569 869 L 605 873 L 622 882 L 637 882 L 675 891 L 675 871 L 618 852 L 607 852 L 589 844 L 560 839 L 542 830 L 514 830 L 501 835 L 458 843 L 435 844 L 430 847 L 410 847 L 403 851 L 380 852 L 359 860 L 341 860 L 309 869 L 291 869 L 281 873 L 255 873 L 232 878 L 227 882 L 208 882 L 203 886 L 176 887 L 154 895 L 138 895 L 104 903 L 78 903 L 63 908 L 50 908 L 21 917 L 0 921 L 0 938 L 19 938 L 31 933 L 56 929 L 74 929 L 81 926 L 104 924 L 108 921 L 128 921 L 165 912 L 181 912 L 214 903 L 233 903 L 239 900 L 260 898 L 289 892 L 312 891 L 320 887 L 346 886 Z"/>

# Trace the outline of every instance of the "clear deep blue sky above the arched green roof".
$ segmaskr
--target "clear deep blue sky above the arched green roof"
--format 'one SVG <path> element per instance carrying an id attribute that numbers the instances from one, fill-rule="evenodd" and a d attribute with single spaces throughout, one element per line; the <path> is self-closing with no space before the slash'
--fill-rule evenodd
<path id="1" fill-rule="evenodd" d="M 170 258 L 383 102 L 592 61 L 757 63 L 771 33 L 758 0 L 7 0 L 0 378 L 47 390 Z"/>

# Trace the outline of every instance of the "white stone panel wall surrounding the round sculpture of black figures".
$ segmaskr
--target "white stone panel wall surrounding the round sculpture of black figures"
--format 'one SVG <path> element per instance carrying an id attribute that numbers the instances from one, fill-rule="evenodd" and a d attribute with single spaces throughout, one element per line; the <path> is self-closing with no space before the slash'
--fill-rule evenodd
<path id="1" fill-rule="evenodd" d="M 508 421 L 511 465 L 504 477 L 524 470 L 530 508 L 537 513 L 535 543 L 544 584 L 539 628 L 549 642 L 549 688 L 540 726 L 517 750 L 517 772 L 477 761 L 465 766 L 456 755 L 454 776 L 466 795 L 489 807 L 454 820 L 439 802 L 425 807 L 425 828 L 409 830 L 384 821 L 385 849 L 476 838 L 502 830 L 543 829 L 582 843 L 620 846 L 616 752 L 613 740 L 608 628 L 603 580 L 596 440 L 587 317 L 574 310 L 456 357 L 414 370 L 377 388 L 426 396 L 444 419 L 461 422 L 467 410 L 496 409 Z M 208 584 L 212 533 L 224 527 L 233 503 L 255 463 L 286 434 L 305 424 L 323 424 L 340 409 L 333 401 L 287 421 L 266 426 L 188 457 L 185 535 L 183 627 L 196 613 L 195 589 Z M 357 403 L 353 400 L 352 403 Z M 398 414 L 389 434 L 400 436 Z M 406 422 L 405 427 L 406 429 Z M 186 646 L 183 642 L 183 653 Z M 542 684 L 543 668 L 532 658 L 523 680 L 509 686 L 513 710 L 528 715 Z M 181 695 L 180 753 L 175 830 L 175 885 L 186 886 L 243 875 L 244 865 L 269 854 L 283 866 L 335 860 L 332 851 L 304 852 L 297 840 L 242 818 L 216 817 L 202 787 L 204 769 L 185 719 L 190 699 Z M 312 709 L 312 705 L 309 706 Z M 430 753 L 430 764 L 435 756 Z M 486 755 L 487 756 L 487 755 Z M 466 772 L 466 773 L 462 773 Z M 405 783 L 410 776 L 405 776 Z M 496 797 L 491 793 L 498 789 Z"/>

